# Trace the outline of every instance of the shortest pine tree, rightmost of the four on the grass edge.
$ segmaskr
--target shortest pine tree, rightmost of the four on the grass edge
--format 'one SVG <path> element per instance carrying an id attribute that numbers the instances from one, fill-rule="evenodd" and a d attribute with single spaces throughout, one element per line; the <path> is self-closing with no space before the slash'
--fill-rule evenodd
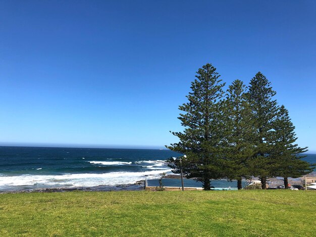
<path id="1" fill-rule="evenodd" d="M 276 175 L 284 177 L 284 187 L 288 188 L 288 177 L 300 177 L 312 172 L 310 163 L 301 160 L 305 157 L 300 155 L 307 151 L 307 147 L 300 148 L 294 144 L 297 137 L 294 125 L 289 117 L 288 110 L 282 105 L 274 122 L 275 144 L 273 157 L 275 158 Z"/>

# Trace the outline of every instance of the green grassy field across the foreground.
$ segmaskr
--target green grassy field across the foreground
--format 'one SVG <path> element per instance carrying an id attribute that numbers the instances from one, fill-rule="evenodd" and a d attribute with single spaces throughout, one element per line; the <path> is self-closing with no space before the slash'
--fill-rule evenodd
<path id="1" fill-rule="evenodd" d="M 314 191 L 0 194 L 0 236 L 315 236 Z"/>

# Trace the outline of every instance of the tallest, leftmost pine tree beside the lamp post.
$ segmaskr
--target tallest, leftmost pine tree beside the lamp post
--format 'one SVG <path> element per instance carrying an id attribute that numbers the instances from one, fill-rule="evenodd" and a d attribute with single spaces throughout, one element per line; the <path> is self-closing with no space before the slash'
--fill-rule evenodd
<path id="1" fill-rule="evenodd" d="M 203 183 L 204 190 L 210 190 L 210 179 L 222 176 L 222 138 L 224 133 L 221 112 L 223 86 L 220 75 L 210 64 L 197 71 L 191 83 L 188 102 L 179 106 L 184 113 L 178 117 L 183 132 L 173 132 L 179 143 L 167 148 L 186 154 L 182 165 L 187 177 L 195 177 Z M 179 162 L 175 162 L 179 168 Z"/>

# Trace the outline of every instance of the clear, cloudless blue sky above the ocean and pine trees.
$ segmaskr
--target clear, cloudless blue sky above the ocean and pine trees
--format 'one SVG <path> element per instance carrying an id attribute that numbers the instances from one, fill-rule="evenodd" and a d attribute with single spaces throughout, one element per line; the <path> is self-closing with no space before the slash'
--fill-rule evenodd
<path id="1" fill-rule="evenodd" d="M 264 73 L 316 151 L 315 1 L 0 2 L 1 144 L 163 147 L 199 67 Z"/>

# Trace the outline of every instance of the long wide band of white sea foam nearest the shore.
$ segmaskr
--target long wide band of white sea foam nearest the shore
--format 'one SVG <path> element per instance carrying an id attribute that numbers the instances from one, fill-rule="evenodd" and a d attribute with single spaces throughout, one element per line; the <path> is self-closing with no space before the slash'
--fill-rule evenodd
<path id="1" fill-rule="evenodd" d="M 144 172 L 75 173 L 63 175 L 18 175 L 0 176 L 0 188 L 10 186 L 45 187 L 93 187 L 98 185 L 134 184 L 146 176 L 158 177 L 171 169 Z"/>

